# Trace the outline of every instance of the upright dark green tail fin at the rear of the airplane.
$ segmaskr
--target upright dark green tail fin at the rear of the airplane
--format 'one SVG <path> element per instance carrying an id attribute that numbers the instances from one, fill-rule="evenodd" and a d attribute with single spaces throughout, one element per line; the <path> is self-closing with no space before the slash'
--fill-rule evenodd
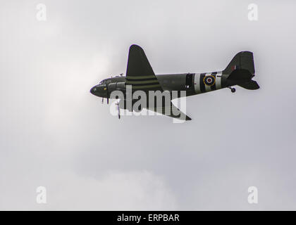
<path id="1" fill-rule="evenodd" d="M 233 57 L 233 60 L 228 64 L 223 73 L 230 75 L 233 70 L 245 69 L 249 70 L 252 75 L 255 75 L 253 53 L 250 51 L 241 51 Z"/>

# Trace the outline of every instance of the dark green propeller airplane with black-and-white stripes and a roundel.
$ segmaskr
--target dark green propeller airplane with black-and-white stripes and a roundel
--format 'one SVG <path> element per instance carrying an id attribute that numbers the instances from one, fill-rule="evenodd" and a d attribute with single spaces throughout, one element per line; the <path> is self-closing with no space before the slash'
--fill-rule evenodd
<path id="1" fill-rule="evenodd" d="M 224 88 L 228 88 L 234 93 L 235 88 L 233 86 L 235 85 L 248 90 L 256 90 L 259 89 L 259 85 L 252 79 L 254 75 L 254 58 L 253 53 L 250 51 L 237 53 L 225 70 L 155 75 L 144 50 L 140 46 L 133 44 L 130 46 L 128 53 L 128 66 L 125 77 L 121 74 L 121 76 L 103 79 L 99 84 L 92 87 L 90 93 L 101 97 L 102 103 L 104 102 L 104 98 L 107 98 L 107 103 L 109 103 L 112 91 L 123 91 L 125 94 L 124 99 L 120 99 L 119 101 L 124 101 L 124 104 L 117 103 L 118 118 L 120 119 L 120 108 L 127 109 L 127 85 L 131 85 L 132 91 L 142 90 L 145 93 L 148 93 L 148 91 L 169 91 L 169 93 L 178 91 L 177 98 L 180 98 L 181 91 L 185 91 L 186 96 L 203 94 Z M 170 103 L 170 105 L 162 105 L 161 110 L 157 110 L 156 106 L 147 109 L 154 110 L 157 113 L 160 111 L 163 115 L 167 115 L 165 113 L 166 108 L 171 110 L 171 114 L 168 115 L 170 117 L 180 120 L 191 120 L 190 117 L 175 107 L 173 103 Z M 177 110 L 179 115 L 174 115 L 174 113 L 172 113 L 173 110 Z"/>

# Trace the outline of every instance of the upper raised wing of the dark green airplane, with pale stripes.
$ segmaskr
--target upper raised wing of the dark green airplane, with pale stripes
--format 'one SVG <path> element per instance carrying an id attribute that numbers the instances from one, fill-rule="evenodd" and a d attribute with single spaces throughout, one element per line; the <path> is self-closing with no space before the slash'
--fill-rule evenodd
<path id="1" fill-rule="evenodd" d="M 135 44 L 130 46 L 128 53 L 125 84 L 132 85 L 132 89 L 136 90 L 163 91 L 143 49 Z"/>

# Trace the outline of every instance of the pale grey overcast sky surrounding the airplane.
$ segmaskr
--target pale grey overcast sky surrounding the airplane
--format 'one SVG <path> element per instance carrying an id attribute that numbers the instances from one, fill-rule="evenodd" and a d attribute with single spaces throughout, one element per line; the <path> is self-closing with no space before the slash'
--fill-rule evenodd
<path id="1" fill-rule="evenodd" d="M 296 210 L 295 6 L 2 0 L 0 210 Z M 252 51 L 261 89 L 191 96 L 183 124 L 118 120 L 90 88 L 125 73 L 131 44 L 156 74 L 223 70 Z"/>

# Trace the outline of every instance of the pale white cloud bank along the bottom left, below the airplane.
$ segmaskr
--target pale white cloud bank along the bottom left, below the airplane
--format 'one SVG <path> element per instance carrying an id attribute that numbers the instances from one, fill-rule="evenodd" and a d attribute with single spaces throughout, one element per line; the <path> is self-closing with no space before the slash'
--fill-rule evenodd
<path id="1" fill-rule="evenodd" d="M 108 172 L 98 179 L 66 172 L 43 176 L 38 182 L 30 176 L 25 182 L 20 183 L 17 177 L 18 183 L 8 183 L 10 188 L 1 196 L 0 210 L 176 209 L 175 196 L 164 180 L 147 171 Z M 35 201 L 37 186 L 47 188 L 45 205 Z"/>

